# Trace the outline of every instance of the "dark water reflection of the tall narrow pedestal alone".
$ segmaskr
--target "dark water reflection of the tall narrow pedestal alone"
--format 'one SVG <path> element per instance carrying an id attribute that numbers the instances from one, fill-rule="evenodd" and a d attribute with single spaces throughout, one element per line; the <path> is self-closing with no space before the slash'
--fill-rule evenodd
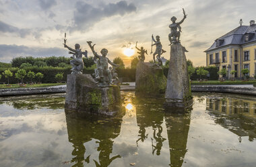
<path id="1" fill-rule="evenodd" d="M 164 115 L 169 142 L 169 166 L 182 166 L 187 153 L 187 137 L 191 121 L 192 106 L 185 109 L 168 109 Z"/>

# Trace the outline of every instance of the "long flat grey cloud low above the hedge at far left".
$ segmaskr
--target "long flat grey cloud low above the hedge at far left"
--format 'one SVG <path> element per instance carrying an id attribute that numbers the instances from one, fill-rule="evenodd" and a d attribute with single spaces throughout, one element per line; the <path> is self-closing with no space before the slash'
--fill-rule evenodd
<path id="1" fill-rule="evenodd" d="M 63 56 L 67 55 L 64 48 L 40 48 L 28 47 L 24 45 L 7 45 L 0 44 L 0 61 L 9 62 L 14 57 L 19 56 L 33 56 L 33 57 L 49 57 L 49 56 Z"/>

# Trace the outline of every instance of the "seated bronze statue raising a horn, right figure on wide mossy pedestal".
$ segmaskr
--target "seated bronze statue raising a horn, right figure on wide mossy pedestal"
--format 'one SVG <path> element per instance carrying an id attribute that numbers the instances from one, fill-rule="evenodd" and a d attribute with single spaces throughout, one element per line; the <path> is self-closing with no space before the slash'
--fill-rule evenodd
<path id="1" fill-rule="evenodd" d="M 94 51 L 95 44 L 92 45 L 92 42 L 88 41 L 88 45 L 90 46 L 92 53 L 94 54 L 94 59 L 98 59 L 97 70 L 96 70 L 98 71 L 98 75 L 96 75 L 95 77 L 96 81 L 98 81 L 99 83 L 98 86 L 101 86 L 101 87 L 110 86 L 113 76 L 110 69 L 108 69 L 108 63 L 115 67 L 118 67 L 119 65 L 112 63 L 106 57 L 106 55 L 108 54 L 108 50 L 106 50 L 106 48 L 102 48 L 102 50 L 100 51 L 102 56 L 100 56 L 96 53 L 96 51 Z"/>

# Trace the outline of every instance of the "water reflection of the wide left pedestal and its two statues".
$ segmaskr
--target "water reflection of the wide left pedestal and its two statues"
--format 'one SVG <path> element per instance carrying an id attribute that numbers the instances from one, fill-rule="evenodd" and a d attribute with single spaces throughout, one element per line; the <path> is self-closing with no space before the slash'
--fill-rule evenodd
<path id="1" fill-rule="evenodd" d="M 121 130 L 121 118 L 106 119 L 95 116 L 87 116 L 86 118 L 76 118 L 73 114 L 67 114 L 67 133 L 69 142 L 73 143 L 72 160 L 73 166 L 104 166 L 107 167 L 120 155 L 111 157 L 113 151 L 113 139 L 119 136 Z M 86 143 L 96 139 L 98 147 L 91 145 L 91 149 L 96 149 L 98 160 L 92 158 L 86 153 Z M 93 159 L 93 160 L 92 160 Z M 86 165 L 87 164 L 87 165 Z M 93 164 L 93 165 L 92 165 Z"/>

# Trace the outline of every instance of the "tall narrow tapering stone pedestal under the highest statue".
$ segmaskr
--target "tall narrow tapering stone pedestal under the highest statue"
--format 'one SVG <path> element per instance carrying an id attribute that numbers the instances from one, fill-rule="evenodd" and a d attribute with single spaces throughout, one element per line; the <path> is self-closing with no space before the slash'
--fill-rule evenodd
<path id="1" fill-rule="evenodd" d="M 185 107 L 191 100 L 191 86 L 187 71 L 185 48 L 180 43 L 170 46 L 170 63 L 165 92 L 165 105 Z"/>

